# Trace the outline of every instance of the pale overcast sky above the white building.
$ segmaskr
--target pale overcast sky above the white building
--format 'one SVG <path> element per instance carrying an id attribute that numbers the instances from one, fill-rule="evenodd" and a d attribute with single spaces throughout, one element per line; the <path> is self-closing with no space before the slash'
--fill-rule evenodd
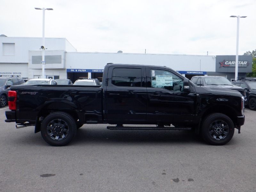
<path id="1" fill-rule="evenodd" d="M 235 55 L 256 49 L 256 0 L 1 0 L 0 34 L 66 38 L 78 52 Z"/>

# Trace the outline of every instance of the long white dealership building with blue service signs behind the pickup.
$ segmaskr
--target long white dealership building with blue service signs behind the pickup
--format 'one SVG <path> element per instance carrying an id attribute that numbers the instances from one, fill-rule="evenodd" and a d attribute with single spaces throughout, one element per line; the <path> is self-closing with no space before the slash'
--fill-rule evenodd
<path id="1" fill-rule="evenodd" d="M 42 38 L 1 35 L 0 75 L 42 77 L 41 45 Z M 219 71 L 220 62 L 212 55 L 76 52 L 65 38 L 45 38 L 45 48 L 45 75 L 53 79 L 70 78 L 75 81 L 81 77 L 100 78 L 107 63 L 166 66 L 179 71 L 189 79 L 195 75 L 219 75 L 231 80 L 235 76 L 234 66 L 227 65 Z M 243 73 L 238 76 L 245 76 L 246 72 L 252 71 L 252 62 L 248 63 L 248 68 L 243 68 Z M 241 71 L 240 68 L 239 70 Z"/>

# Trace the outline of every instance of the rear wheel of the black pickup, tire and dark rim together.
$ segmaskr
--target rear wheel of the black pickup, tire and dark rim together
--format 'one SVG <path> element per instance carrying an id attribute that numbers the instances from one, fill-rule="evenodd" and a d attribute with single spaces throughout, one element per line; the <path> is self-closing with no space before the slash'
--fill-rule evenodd
<path id="1" fill-rule="evenodd" d="M 52 146 L 67 145 L 76 136 L 76 122 L 64 112 L 54 112 L 46 116 L 41 125 L 43 139 Z"/>

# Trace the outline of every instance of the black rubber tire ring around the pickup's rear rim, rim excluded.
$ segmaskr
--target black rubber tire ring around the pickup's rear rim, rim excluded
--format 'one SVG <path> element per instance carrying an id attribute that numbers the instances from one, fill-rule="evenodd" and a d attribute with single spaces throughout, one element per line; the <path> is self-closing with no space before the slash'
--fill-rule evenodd
<path id="1" fill-rule="evenodd" d="M 68 135 L 63 140 L 53 140 L 47 133 L 47 125 L 54 119 L 61 119 L 68 124 Z M 52 146 L 67 145 L 76 136 L 76 122 L 72 116 L 64 112 L 54 112 L 46 116 L 41 124 L 41 135 L 43 139 Z"/>

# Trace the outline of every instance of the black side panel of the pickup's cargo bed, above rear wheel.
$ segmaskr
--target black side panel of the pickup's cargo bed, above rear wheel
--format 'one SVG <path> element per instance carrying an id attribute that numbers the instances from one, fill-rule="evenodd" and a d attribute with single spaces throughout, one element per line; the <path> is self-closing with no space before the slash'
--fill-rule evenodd
<path id="1" fill-rule="evenodd" d="M 17 92 L 17 119 L 24 122 L 34 122 L 36 116 L 46 113 L 47 110 L 76 111 L 79 119 L 84 122 L 84 114 L 102 118 L 102 88 L 101 86 L 74 86 L 74 85 L 20 85 L 12 86 Z M 28 115 L 29 114 L 29 115 Z M 75 114 L 75 113 L 74 113 Z M 92 116 L 93 116 L 92 115 Z"/>

